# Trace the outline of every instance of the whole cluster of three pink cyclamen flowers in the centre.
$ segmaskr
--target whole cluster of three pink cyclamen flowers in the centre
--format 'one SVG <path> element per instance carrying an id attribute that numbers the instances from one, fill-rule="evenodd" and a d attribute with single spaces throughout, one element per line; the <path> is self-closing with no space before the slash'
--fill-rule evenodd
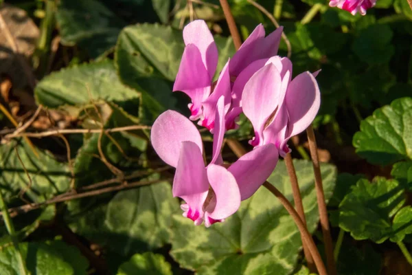
<path id="1" fill-rule="evenodd" d="M 214 135 L 212 159 L 203 159 L 203 142 L 195 124 L 176 111 L 165 111 L 152 126 L 151 140 L 164 162 L 176 168 L 173 195 L 185 201 L 183 216 L 208 227 L 224 221 L 266 181 L 279 155 L 290 151 L 290 137 L 304 131 L 320 105 L 315 76 L 304 72 L 292 79 L 292 63 L 277 56 L 282 28 L 265 36 L 258 25 L 227 61 L 218 80 L 213 77 L 218 50 L 205 21 L 183 30 L 185 50 L 174 91 L 190 97 L 190 120 Z M 253 151 L 229 168 L 220 153 L 225 131 L 236 129 L 244 113 L 255 137 Z"/>

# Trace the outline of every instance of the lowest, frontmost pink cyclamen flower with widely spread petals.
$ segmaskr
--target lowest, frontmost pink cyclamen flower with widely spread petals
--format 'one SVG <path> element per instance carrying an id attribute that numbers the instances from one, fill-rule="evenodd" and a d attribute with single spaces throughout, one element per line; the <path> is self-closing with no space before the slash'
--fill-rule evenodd
<path id="1" fill-rule="evenodd" d="M 176 111 L 165 111 L 152 126 L 151 141 L 164 162 L 176 168 L 173 196 L 185 201 L 183 216 L 205 226 L 236 212 L 271 175 L 278 153 L 273 144 L 258 146 L 229 168 L 220 149 L 225 133 L 224 98 L 218 100 L 211 163 L 205 166 L 203 144 L 196 126 Z"/>

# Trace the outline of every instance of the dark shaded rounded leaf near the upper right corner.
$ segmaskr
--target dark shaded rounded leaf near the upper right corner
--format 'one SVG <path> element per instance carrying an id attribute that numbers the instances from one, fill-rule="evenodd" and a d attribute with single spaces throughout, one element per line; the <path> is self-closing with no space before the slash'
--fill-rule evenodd
<path id="1" fill-rule="evenodd" d="M 388 25 L 369 25 L 362 30 L 352 44 L 352 50 L 366 63 L 388 63 L 395 53 L 391 45 L 393 32 Z"/>

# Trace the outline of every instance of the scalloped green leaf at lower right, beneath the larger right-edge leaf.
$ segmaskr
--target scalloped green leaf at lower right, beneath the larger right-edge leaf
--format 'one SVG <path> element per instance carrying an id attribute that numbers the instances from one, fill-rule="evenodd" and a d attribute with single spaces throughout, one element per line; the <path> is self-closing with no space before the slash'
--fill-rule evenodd
<path id="1" fill-rule="evenodd" d="M 405 202 L 395 179 L 359 179 L 339 206 L 339 226 L 356 240 L 382 243 L 392 234 L 391 219 Z"/>

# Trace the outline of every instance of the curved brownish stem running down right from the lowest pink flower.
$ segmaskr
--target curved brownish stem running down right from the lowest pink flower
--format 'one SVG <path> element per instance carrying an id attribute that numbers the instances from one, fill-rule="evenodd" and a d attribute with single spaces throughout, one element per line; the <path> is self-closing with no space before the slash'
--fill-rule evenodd
<path id="1" fill-rule="evenodd" d="M 301 219 L 299 218 L 299 214 L 297 214 L 295 208 L 293 208 L 292 204 L 290 204 L 288 199 L 286 199 L 286 197 L 279 190 L 277 190 L 275 186 L 273 186 L 272 184 L 269 184 L 268 181 L 266 181 L 263 184 L 263 186 L 269 191 L 271 191 L 272 194 L 277 197 L 277 199 L 279 199 L 279 201 L 282 203 L 284 208 L 286 208 L 286 210 L 289 212 L 293 221 L 295 221 L 297 228 L 299 228 L 299 231 L 301 232 L 301 236 L 304 238 L 305 243 L 308 245 L 310 254 L 312 254 L 313 256 L 314 264 L 317 267 L 319 275 L 327 275 L 328 273 L 326 272 L 325 265 L 323 264 L 321 255 L 319 254 L 319 251 L 317 250 L 316 245 L 314 244 L 312 236 L 310 236 L 310 233 L 308 232 L 308 229 L 304 225 L 304 222 L 301 221 Z"/>

